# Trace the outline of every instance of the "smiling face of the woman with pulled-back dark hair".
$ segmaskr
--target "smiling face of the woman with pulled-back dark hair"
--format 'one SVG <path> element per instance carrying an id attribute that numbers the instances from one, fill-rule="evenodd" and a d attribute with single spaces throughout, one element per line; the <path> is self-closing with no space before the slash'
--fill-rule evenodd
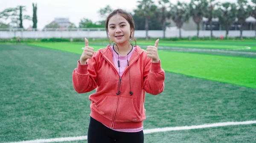
<path id="1" fill-rule="evenodd" d="M 129 44 L 131 28 L 128 21 L 119 14 L 114 15 L 108 21 L 109 38 L 117 45 Z"/>

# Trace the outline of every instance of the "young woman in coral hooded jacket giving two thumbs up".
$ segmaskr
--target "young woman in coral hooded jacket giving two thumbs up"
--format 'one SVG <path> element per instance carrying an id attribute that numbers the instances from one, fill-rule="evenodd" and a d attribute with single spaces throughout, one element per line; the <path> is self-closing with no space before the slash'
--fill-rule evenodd
<path id="1" fill-rule="evenodd" d="M 106 20 L 108 39 L 114 44 L 94 52 L 85 39 L 84 51 L 73 71 L 73 86 L 89 96 L 88 143 L 143 143 L 145 92 L 164 89 L 164 70 L 157 53 L 159 39 L 147 51 L 132 45 L 134 20 L 122 9 Z M 157 102 L 157 99 L 156 99 Z"/>

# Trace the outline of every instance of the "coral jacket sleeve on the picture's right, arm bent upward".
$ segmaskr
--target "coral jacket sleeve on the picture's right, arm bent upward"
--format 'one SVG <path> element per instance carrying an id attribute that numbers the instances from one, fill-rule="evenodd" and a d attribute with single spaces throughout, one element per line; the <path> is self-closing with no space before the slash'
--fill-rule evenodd
<path id="1" fill-rule="evenodd" d="M 144 89 L 147 93 L 157 95 L 163 92 L 165 72 L 161 68 L 161 61 L 157 63 L 151 62 L 151 58 L 145 61 L 143 71 Z"/>

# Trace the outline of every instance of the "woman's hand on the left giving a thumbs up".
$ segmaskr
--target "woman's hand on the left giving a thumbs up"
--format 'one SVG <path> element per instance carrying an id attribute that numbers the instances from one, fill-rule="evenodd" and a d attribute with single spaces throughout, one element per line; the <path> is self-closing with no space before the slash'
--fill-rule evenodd
<path id="1" fill-rule="evenodd" d="M 93 56 L 94 49 L 89 46 L 89 42 L 86 38 L 85 39 L 85 47 L 84 51 L 80 57 L 80 64 L 86 64 L 87 59 L 90 59 Z"/>

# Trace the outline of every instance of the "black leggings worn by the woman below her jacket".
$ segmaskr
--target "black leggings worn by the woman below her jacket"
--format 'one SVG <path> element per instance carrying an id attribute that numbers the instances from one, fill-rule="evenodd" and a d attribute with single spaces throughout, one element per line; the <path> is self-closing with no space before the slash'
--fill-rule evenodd
<path id="1" fill-rule="evenodd" d="M 143 130 L 140 132 L 114 131 L 90 117 L 87 141 L 88 143 L 144 143 L 144 134 Z"/>

